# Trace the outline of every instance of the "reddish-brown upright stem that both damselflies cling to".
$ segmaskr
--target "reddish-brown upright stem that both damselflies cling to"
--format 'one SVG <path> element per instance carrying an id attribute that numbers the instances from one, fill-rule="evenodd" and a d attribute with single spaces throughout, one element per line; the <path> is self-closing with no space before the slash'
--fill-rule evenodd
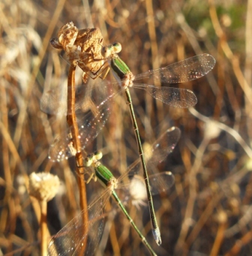
<path id="1" fill-rule="evenodd" d="M 80 190 L 80 209 L 88 209 L 88 203 L 86 200 L 86 183 L 85 180 L 81 177 L 81 174 L 84 173 L 83 168 L 83 155 L 81 153 L 80 139 L 79 139 L 79 129 L 77 125 L 77 118 L 75 115 L 75 71 L 76 63 L 72 63 L 69 68 L 68 73 L 68 116 L 67 121 L 68 125 L 71 128 L 71 134 L 73 137 L 74 148 L 77 150 L 76 161 L 77 161 L 77 173 L 80 175 L 77 176 L 79 190 Z M 83 223 L 89 221 L 88 211 L 83 211 Z M 83 230 L 83 233 L 88 233 L 88 230 Z M 87 237 L 87 236 L 86 236 Z M 83 240 L 83 251 L 86 248 L 87 239 Z"/>

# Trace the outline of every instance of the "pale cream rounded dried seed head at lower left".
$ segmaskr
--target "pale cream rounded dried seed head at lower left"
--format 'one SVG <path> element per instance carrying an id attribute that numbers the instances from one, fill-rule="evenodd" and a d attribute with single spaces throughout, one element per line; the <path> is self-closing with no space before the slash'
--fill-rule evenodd
<path id="1" fill-rule="evenodd" d="M 59 179 L 51 173 L 31 173 L 29 176 L 29 194 L 40 201 L 49 201 L 58 191 Z"/>

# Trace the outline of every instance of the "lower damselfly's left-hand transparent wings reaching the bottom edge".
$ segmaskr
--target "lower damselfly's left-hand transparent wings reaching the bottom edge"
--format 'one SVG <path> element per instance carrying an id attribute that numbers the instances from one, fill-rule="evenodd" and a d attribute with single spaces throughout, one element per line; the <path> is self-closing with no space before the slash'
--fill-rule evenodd
<path id="1" fill-rule="evenodd" d="M 104 230 L 104 205 L 110 194 L 104 191 L 88 208 L 89 221 L 83 222 L 83 212 L 73 218 L 52 237 L 48 255 L 93 255 Z M 84 232 L 86 230 L 86 233 Z M 83 245 L 86 243 L 85 254 Z"/>

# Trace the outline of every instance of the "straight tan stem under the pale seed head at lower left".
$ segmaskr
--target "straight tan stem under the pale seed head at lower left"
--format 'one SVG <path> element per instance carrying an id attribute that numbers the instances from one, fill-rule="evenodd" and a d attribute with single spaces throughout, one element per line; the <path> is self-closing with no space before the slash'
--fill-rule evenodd
<path id="1" fill-rule="evenodd" d="M 41 208 L 41 218 L 40 218 L 40 230 L 41 230 L 41 243 L 40 243 L 40 251 L 41 256 L 47 255 L 47 202 L 46 200 L 40 201 Z"/>

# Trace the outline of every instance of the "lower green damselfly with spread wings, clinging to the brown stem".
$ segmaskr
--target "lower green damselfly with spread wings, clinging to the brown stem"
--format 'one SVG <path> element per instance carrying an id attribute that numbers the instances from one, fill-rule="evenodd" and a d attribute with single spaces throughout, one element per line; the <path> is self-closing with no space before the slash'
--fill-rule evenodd
<path id="1" fill-rule="evenodd" d="M 172 127 L 166 130 L 156 142 L 151 146 L 146 155 L 148 155 L 147 166 L 151 168 L 151 170 L 155 169 L 155 166 L 163 161 L 167 155 L 175 148 L 176 143 L 180 137 L 180 130 L 178 128 Z M 132 188 L 129 189 L 129 193 L 134 197 L 135 200 L 142 200 L 146 196 L 145 189 L 144 195 L 141 198 L 136 198 L 134 196 L 134 191 L 139 191 L 139 189 L 135 188 L 136 179 L 139 179 L 139 174 L 141 174 L 141 163 L 140 161 L 136 161 L 132 164 L 129 169 L 121 175 L 118 179 L 115 179 L 113 174 L 108 170 L 107 167 L 100 163 L 99 158 L 101 155 L 92 155 L 92 157 L 87 158 L 86 165 L 92 165 L 92 175 L 94 175 L 102 185 L 104 185 L 106 191 L 104 193 L 92 201 L 89 205 L 89 222 L 83 223 L 82 214 L 78 215 L 72 221 L 70 221 L 65 227 L 62 228 L 55 236 L 52 237 L 49 242 L 48 254 L 49 255 L 72 255 L 72 254 L 80 254 L 83 240 L 89 237 L 86 247 L 86 255 L 92 255 L 95 253 L 95 248 L 98 245 L 98 242 L 101 239 L 101 235 L 103 232 L 103 224 L 104 224 L 104 205 L 109 200 L 110 196 L 113 196 L 114 200 L 118 203 L 118 206 L 121 208 L 124 215 L 126 215 L 127 219 L 130 221 L 130 224 L 138 233 L 142 242 L 148 248 L 148 251 L 152 255 L 156 255 L 151 245 L 148 244 L 145 236 L 139 231 L 136 225 L 133 223 L 133 220 L 128 215 L 127 210 L 124 208 L 123 203 L 118 198 L 117 193 L 115 192 L 118 188 Z M 125 182 L 126 180 L 126 182 Z M 164 192 L 169 189 L 173 182 L 174 177 L 170 172 L 156 173 L 152 176 L 149 176 L 149 180 L 151 182 L 151 193 L 157 194 L 160 192 Z M 142 183 L 143 187 L 144 184 Z M 139 194 L 137 194 L 139 196 Z M 141 202 L 139 202 L 141 203 Z M 83 226 L 88 228 L 83 229 Z M 83 230 L 89 230 L 89 233 L 83 234 Z"/>

